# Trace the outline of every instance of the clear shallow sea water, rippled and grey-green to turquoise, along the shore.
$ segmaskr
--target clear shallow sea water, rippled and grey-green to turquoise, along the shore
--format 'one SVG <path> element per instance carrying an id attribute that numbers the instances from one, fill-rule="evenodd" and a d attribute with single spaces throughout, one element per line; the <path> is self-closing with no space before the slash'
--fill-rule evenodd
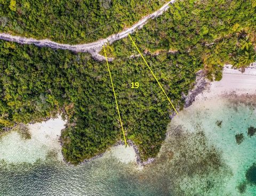
<path id="1" fill-rule="evenodd" d="M 243 100 L 191 105 L 172 120 L 161 152 L 143 170 L 111 156 L 79 166 L 54 153 L 35 163 L 2 160 L 0 195 L 256 195 L 246 178 L 256 162 L 256 135 L 247 135 L 255 111 Z M 236 134 L 243 134 L 241 144 Z"/>

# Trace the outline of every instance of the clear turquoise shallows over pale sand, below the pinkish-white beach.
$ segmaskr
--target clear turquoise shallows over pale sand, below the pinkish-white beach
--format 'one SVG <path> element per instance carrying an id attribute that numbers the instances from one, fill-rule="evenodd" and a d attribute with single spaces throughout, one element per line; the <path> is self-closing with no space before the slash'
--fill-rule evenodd
<path id="1" fill-rule="evenodd" d="M 249 127 L 256 127 L 256 108 L 245 97 L 238 100 L 215 99 L 196 103 L 171 123 L 172 129 L 182 126 L 189 133 L 202 132 L 208 145 L 218 150 L 222 162 L 220 168 L 226 168 L 226 174 L 218 188 L 221 191 L 212 189 L 206 195 L 241 195 L 241 192 L 256 195 L 255 184 L 246 179 L 247 170 L 256 162 L 256 136 L 247 134 Z M 243 136 L 241 143 L 236 141 L 238 134 Z"/>

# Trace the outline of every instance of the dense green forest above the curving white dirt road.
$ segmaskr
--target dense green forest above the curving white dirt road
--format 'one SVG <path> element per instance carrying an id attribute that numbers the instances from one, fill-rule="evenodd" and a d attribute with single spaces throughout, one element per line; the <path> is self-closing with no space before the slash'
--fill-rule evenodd
<path id="1" fill-rule="evenodd" d="M 0 0 L 0 31 L 85 43 L 130 27 L 167 0 Z"/>

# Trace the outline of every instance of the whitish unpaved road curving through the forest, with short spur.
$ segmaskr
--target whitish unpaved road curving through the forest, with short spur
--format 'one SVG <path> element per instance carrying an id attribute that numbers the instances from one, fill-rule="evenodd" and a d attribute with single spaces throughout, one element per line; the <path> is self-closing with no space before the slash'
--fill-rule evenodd
<path id="1" fill-rule="evenodd" d="M 90 53 L 95 60 L 104 61 L 105 57 L 100 55 L 99 52 L 105 43 L 109 42 L 111 44 L 111 43 L 115 42 L 116 40 L 127 37 L 128 34 L 132 34 L 132 32 L 134 32 L 135 29 L 142 28 L 143 25 L 145 25 L 149 19 L 154 19 L 155 17 L 158 17 L 159 15 L 161 15 L 164 11 L 166 11 L 169 8 L 169 4 L 174 3 L 174 2 L 175 2 L 175 0 L 172 0 L 172 1 L 164 4 L 159 10 L 155 11 L 152 14 L 147 15 L 145 18 L 143 18 L 139 22 L 135 23 L 129 29 L 123 30 L 121 32 L 118 32 L 117 34 L 113 34 L 105 39 L 100 39 L 100 40 L 98 40 L 96 42 L 92 42 L 92 43 L 77 44 L 77 45 L 60 44 L 57 42 L 52 42 L 49 39 L 37 40 L 34 38 L 13 36 L 10 34 L 5 34 L 5 33 L 0 33 L 0 39 L 11 41 L 11 42 L 17 42 L 19 44 L 34 44 L 39 47 L 51 47 L 51 48 L 55 48 L 55 49 L 70 50 L 70 51 L 74 51 L 74 52 L 87 52 L 87 53 Z M 112 59 L 109 58 L 109 61 L 111 61 L 111 60 Z"/>

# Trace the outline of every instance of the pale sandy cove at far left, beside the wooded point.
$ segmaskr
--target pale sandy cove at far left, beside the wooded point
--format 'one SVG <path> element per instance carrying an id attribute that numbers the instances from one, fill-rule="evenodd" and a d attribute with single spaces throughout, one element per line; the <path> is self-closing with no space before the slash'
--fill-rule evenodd
<path id="1" fill-rule="evenodd" d="M 29 124 L 31 139 L 24 140 L 12 131 L 0 139 L 0 160 L 12 163 L 45 160 L 47 156 L 57 156 L 62 160 L 59 137 L 66 121 L 60 116 L 42 123 Z"/>

